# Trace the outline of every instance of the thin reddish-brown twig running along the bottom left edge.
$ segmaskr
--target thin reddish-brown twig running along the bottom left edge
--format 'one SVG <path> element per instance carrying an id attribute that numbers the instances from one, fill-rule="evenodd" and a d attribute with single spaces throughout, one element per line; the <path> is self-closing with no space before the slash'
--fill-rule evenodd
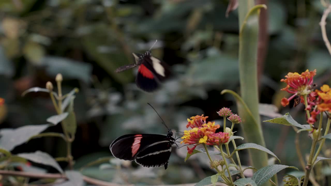
<path id="1" fill-rule="evenodd" d="M 64 178 L 68 179 L 64 174 L 52 174 L 52 173 L 32 173 L 32 172 L 22 172 L 22 171 L 12 171 L 12 170 L 0 170 L 0 175 L 11 175 L 11 176 L 22 176 L 30 178 Z M 83 176 L 84 181 L 99 186 L 119 186 L 119 184 L 101 181 L 98 179 Z"/>

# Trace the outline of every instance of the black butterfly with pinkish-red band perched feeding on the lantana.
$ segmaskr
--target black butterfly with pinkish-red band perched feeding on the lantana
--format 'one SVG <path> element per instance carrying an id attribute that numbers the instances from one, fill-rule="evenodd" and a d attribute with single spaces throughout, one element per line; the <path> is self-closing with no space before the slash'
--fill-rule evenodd
<path id="1" fill-rule="evenodd" d="M 163 120 L 162 123 L 166 126 Z M 171 154 L 171 146 L 175 143 L 172 134 L 169 128 L 166 136 L 160 134 L 126 134 L 113 141 L 110 145 L 110 151 L 113 156 L 122 160 L 134 160 L 145 167 L 165 166 L 166 169 Z"/>

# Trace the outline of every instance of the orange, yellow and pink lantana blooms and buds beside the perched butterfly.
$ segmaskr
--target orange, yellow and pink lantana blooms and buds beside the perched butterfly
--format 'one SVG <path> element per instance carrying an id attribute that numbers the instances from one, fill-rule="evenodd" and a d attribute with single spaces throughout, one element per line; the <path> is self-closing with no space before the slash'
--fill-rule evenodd
<path id="1" fill-rule="evenodd" d="M 233 123 L 241 122 L 241 119 L 238 115 L 231 113 L 231 110 L 228 108 L 222 108 L 219 112 L 217 112 L 219 116 L 230 116 L 228 119 Z M 206 145 L 222 145 L 227 143 L 230 135 L 228 132 L 217 132 L 216 129 L 220 128 L 220 125 L 216 125 L 215 122 L 206 121 L 208 116 L 197 115 L 190 117 L 187 119 L 188 123 L 186 128 L 191 127 L 190 130 L 184 130 L 184 135 L 181 137 L 183 141 L 181 143 L 193 145 L 192 148 L 187 147 L 187 151 L 189 154 L 193 153 L 193 150 L 199 144 Z M 232 130 L 229 131 L 232 133 Z M 232 133 L 233 134 L 233 133 Z"/>

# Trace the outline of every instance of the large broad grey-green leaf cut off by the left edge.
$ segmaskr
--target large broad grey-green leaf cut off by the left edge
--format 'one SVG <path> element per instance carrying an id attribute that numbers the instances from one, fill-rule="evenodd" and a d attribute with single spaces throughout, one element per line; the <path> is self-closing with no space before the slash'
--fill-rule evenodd
<path id="1" fill-rule="evenodd" d="M 28 141 L 32 136 L 39 134 L 48 128 L 49 124 L 43 125 L 26 125 L 16 129 L 0 130 L 0 147 L 8 151 L 13 150 L 16 146 Z"/>

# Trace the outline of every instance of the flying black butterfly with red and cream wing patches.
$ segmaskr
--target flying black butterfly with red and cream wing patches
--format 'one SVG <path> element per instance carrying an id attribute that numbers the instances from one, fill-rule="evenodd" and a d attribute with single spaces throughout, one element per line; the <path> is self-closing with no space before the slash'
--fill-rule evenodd
<path id="1" fill-rule="evenodd" d="M 116 72 L 121 72 L 139 66 L 136 84 L 146 92 L 157 90 L 160 87 L 160 82 L 167 79 L 170 75 L 168 65 L 151 55 L 152 47 L 143 54 L 132 53 L 135 63 L 116 69 Z"/>

